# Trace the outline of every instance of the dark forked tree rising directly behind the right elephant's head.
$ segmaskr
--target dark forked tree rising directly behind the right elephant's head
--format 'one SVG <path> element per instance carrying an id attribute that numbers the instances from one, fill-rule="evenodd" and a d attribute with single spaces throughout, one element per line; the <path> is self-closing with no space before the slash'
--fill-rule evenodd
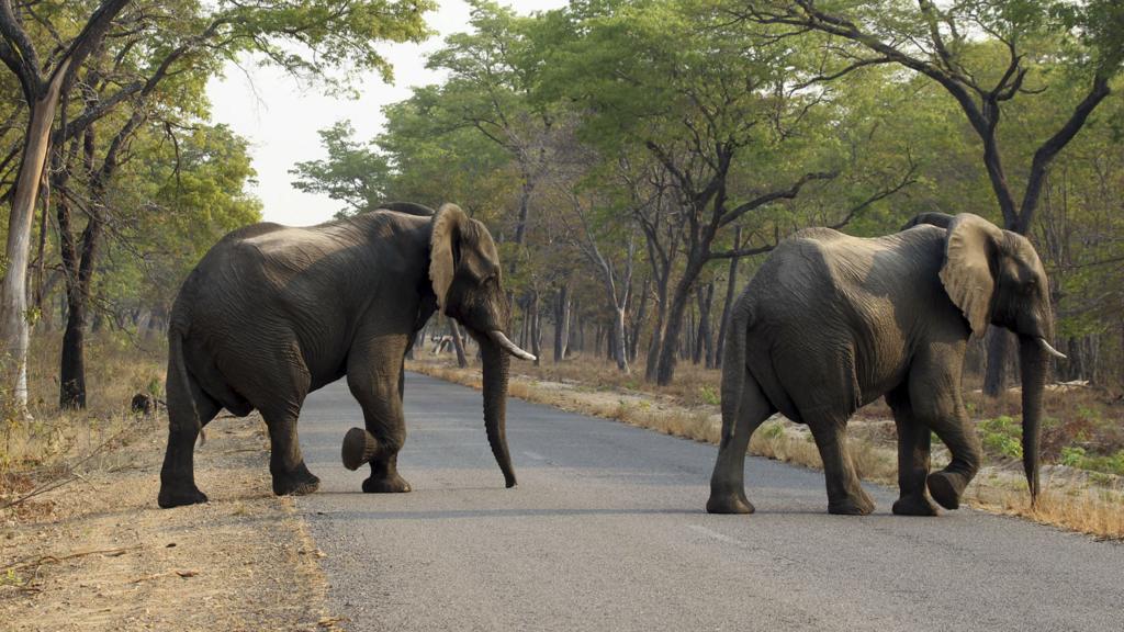
<path id="1" fill-rule="evenodd" d="M 984 166 L 1004 227 L 1023 235 L 1031 229 L 1051 163 L 1112 92 L 1111 82 L 1124 64 L 1124 6 L 1114 0 L 990 0 L 946 7 L 918 0 L 912 9 L 885 0 L 837 10 L 812 0 L 751 1 L 732 6 L 729 11 L 758 24 L 795 27 L 774 34 L 776 38 L 817 31 L 851 43 L 834 47 L 842 66 L 825 79 L 870 65 L 896 64 L 940 84 L 981 142 Z M 996 48 L 1003 51 L 1005 63 L 996 65 L 987 54 Z M 1080 69 L 1086 89 L 1066 115 L 1046 127 L 1030 156 L 1010 155 L 1001 148 L 999 123 L 1017 100 L 1057 98 L 1054 76 L 1062 73 L 1043 69 L 1059 64 Z M 1025 171 L 1007 168 L 1027 157 Z M 1004 386 L 1009 334 L 992 334 L 998 335 L 990 336 L 985 392 L 994 396 Z"/>

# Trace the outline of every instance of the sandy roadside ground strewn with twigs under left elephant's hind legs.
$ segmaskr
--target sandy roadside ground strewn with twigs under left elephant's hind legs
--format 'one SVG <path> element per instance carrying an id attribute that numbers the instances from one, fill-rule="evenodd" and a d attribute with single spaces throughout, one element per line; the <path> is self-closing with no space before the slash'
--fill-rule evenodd
<path id="1" fill-rule="evenodd" d="M 0 511 L 0 628 L 335 629 L 323 553 L 270 490 L 261 419 L 209 426 L 196 476 L 211 502 L 175 509 L 156 506 L 165 424 L 140 422 L 82 478 Z"/>

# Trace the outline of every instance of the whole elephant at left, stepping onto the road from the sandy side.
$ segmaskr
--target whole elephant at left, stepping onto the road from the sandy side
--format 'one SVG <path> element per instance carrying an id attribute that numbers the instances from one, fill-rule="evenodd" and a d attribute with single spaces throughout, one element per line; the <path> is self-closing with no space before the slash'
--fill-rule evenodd
<path id="1" fill-rule="evenodd" d="M 509 354 L 534 356 L 505 334 L 496 244 L 455 205 L 383 206 L 307 228 L 246 226 L 188 276 L 167 335 L 161 507 L 207 502 L 194 482 L 194 444 L 221 408 L 261 413 L 274 494 L 315 491 L 319 479 L 301 457 L 297 418 L 309 392 L 344 376 L 365 425 L 347 433 L 345 464 L 370 463 L 363 491 L 409 491 L 398 473 L 404 358 L 437 309 L 480 344 L 484 428 L 507 487 L 515 486 L 505 432 Z"/>

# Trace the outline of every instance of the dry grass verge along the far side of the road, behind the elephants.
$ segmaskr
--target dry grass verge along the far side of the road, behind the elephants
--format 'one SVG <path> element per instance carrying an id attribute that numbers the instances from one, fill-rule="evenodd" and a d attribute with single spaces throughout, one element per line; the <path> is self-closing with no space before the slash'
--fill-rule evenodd
<path id="1" fill-rule="evenodd" d="M 448 361 L 427 358 L 408 362 L 407 368 L 480 388 L 480 371 L 473 367 L 460 369 Z M 538 368 L 513 363 L 509 394 L 527 401 L 717 444 L 722 431 L 722 417 L 716 406 L 719 374 L 718 371 L 681 364 L 676 373 L 676 385 L 658 387 L 644 383 L 642 376 L 623 374 L 615 364 L 600 360 L 587 359 L 560 365 L 544 363 Z M 1046 415 L 1067 419 L 1072 417 L 1067 410 L 1077 407 L 1097 410 L 1096 416 L 1102 419 L 1114 418 L 1118 414 L 1118 408 L 1114 408 L 1111 401 L 1106 403 L 1103 394 L 1090 389 L 1078 391 L 1076 396 L 1071 392 L 1048 392 Z M 1017 415 L 1021 409 L 1017 391 L 995 401 L 979 392 L 970 392 L 969 400 L 973 413 L 984 418 Z M 851 458 L 863 480 L 897 484 L 897 449 L 892 423 L 887 421 L 890 416 L 890 410 L 880 399 L 864 407 L 851 422 Z M 1066 424 L 1063 421 L 1053 431 L 1048 428 L 1046 436 L 1059 432 L 1057 428 Z M 823 469 L 819 452 L 807 427 L 780 416 L 762 424 L 753 434 L 749 451 L 769 459 Z M 946 460 L 945 451 L 935 445 L 934 467 L 942 467 Z M 980 472 L 966 500 L 994 513 L 1017 515 L 1098 538 L 1124 539 L 1124 487 L 1120 481 L 1105 486 L 1090 484 L 1087 477 L 1073 480 L 1048 478 L 1044 491 L 1032 507 L 1025 481 L 1007 466 L 1007 462 L 997 462 Z"/>

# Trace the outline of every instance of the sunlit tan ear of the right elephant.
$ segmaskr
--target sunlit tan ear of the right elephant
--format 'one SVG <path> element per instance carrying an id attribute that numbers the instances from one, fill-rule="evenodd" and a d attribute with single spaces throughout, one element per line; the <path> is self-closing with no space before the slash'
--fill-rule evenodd
<path id="1" fill-rule="evenodd" d="M 1001 242 L 1003 231 L 977 215 L 963 213 L 949 224 L 941 283 L 977 335 L 990 319 L 995 294 L 991 262 Z"/>

